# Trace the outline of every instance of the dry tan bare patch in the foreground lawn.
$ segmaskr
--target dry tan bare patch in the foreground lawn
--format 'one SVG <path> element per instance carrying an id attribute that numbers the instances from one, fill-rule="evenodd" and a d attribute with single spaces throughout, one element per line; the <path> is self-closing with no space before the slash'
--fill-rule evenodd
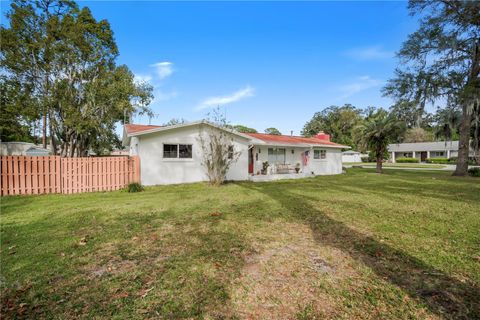
<path id="1" fill-rule="evenodd" d="M 257 229 L 264 241 L 254 242 L 257 253 L 246 257 L 233 285 L 232 304 L 238 316 L 292 319 L 308 310 L 310 316 L 333 317 L 337 302 L 324 288 L 354 273 L 349 258 L 316 243 L 306 225 L 265 227 Z"/>

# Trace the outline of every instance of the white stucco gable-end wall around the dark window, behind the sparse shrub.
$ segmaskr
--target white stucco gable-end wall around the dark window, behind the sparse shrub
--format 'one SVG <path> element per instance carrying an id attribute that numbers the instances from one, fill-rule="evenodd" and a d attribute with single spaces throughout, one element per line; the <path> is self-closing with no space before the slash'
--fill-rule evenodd
<path id="1" fill-rule="evenodd" d="M 204 125 L 177 128 L 165 132 L 141 135 L 138 141 L 131 140 L 130 152 L 140 157 L 141 181 L 143 185 L 175 184 L 206 181 L 202 166 L 202 149 L 198 138 Z M 191 144 L 191 159 L 163 158 L 163 144 Z M 228 174 L 227 180 L 248 179 L 248 141 L 234 138 L 234 148 L 241 152 Z"/>

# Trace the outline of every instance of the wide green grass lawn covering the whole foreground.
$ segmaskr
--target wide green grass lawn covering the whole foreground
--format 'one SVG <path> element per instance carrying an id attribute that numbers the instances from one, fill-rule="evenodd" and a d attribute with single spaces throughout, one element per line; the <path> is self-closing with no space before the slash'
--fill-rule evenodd
<path id="1" fill-rule="evenodd" d="M 3 318 L 480 318 L 480 180 L 348 169 L 1 199 Z"/>

